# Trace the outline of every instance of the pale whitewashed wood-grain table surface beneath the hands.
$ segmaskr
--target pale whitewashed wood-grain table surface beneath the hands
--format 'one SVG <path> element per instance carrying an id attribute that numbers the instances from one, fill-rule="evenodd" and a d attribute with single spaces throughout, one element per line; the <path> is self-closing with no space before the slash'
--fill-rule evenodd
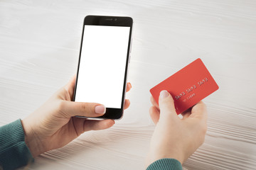
<path id="1" fill-rule="evenodd" d="M 205 143 L 186 169 L 256 167 L 256 1 L 0 1 L 0 125 L 25 118 L 78 64 L 87 15 L 134 18 L 127 94 L 108 130 L 87 132 L 36 157 L 28 169 L 144 169 L 154 124 L 149 89 L 200 57 L 220 89 L 208 106 Z"/>

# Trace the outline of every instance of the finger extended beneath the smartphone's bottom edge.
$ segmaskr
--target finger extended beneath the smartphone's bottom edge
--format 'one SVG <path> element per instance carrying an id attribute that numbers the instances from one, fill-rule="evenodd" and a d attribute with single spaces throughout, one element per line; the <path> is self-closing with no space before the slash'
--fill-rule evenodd
<path id="1" fill-rule="evenodd" d="M 106 120 L 85 120 L 83 125 L 84 132 L 89 130 L 104 130 L 112 127 L 114 125 L 114 120 L 106 119 Z"/>

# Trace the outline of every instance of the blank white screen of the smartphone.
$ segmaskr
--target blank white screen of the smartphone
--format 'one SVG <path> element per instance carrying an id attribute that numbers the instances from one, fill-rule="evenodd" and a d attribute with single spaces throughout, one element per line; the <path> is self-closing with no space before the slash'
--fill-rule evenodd
<path id="1" fill-rule="evenodd" d="M 121 108 L 129 27 L 84 29 L 75 101 Z"/>

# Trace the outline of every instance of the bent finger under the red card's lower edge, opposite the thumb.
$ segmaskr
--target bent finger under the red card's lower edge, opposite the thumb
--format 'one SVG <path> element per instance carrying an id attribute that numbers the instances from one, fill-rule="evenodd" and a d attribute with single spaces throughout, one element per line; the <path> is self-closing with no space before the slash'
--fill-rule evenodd
<path id="1" fill-rule="evenodd" d="M 201 120 L 207 120 L 206 104 L 203 101 L 199 101 L 191 110 L 190 118 L 199 118 Z"/>

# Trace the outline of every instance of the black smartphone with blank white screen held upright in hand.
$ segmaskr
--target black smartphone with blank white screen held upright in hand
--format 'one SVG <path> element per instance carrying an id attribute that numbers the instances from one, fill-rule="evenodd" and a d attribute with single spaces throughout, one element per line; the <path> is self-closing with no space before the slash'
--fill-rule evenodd
<path id="1" fill-rule="evenodd" d="M 124 113 L 132 24 L 122 16 L 84 19 L 73 101 L 105 105 L 105 115 L 97 118 L 120 119 Z"/>

